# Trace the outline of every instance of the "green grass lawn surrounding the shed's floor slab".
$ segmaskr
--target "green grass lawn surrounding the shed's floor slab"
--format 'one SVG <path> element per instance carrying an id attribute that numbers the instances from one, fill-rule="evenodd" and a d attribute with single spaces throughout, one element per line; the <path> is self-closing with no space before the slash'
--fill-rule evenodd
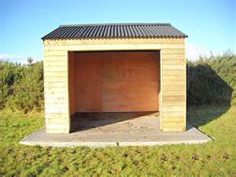
<path id="1" fill-rule="evenodd" d="M 200 145 L 42 148 L 20 145 L 43 114 L 0 112 L 0 176 L 236 176 L 236 106 L 195 106 L 189 121 L 215 141 Z"/>

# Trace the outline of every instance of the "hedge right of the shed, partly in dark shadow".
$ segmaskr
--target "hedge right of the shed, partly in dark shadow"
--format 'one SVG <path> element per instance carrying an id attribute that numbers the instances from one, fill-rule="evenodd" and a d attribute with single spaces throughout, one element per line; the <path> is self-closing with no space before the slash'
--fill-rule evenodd
<path id="1" fill-rule="evenodd" d="M 188 104 L 230 104 L 235 99 L 236 56 L 200 57 L 187 64 Z"/>

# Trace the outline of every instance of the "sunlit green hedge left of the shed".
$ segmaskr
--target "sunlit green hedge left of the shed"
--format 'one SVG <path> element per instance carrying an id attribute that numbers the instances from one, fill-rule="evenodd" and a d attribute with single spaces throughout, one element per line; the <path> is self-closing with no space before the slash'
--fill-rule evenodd
<path id="1" fill-rule="evenodd" d="M 43 109 L 43 63 L 27 65 L 2 61 L 0 109 Z"/>

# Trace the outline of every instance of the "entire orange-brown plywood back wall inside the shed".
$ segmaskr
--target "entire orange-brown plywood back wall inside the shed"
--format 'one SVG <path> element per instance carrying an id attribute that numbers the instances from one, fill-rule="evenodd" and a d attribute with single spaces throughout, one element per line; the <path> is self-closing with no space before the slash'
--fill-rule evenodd
<path id="1" fill-rule="evenodd" d="M 158 51 L 70 53 L 71 114 L 158 111 L 159 63 Z"/>

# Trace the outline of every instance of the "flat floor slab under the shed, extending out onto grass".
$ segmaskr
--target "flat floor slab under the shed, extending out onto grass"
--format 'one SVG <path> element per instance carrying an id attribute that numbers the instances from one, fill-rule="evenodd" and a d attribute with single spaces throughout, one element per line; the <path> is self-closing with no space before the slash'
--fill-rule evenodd
<path id="1" fill-rule="evenodd" d="M 80 113 L 72 118 L 72 133 L 49 134 L 42 128 L 20 141 L 26 145 L 153 146 L 197 144 L 211 140 L 190 124 L 185 132 L 161 132 L 158 113 Z"/>

